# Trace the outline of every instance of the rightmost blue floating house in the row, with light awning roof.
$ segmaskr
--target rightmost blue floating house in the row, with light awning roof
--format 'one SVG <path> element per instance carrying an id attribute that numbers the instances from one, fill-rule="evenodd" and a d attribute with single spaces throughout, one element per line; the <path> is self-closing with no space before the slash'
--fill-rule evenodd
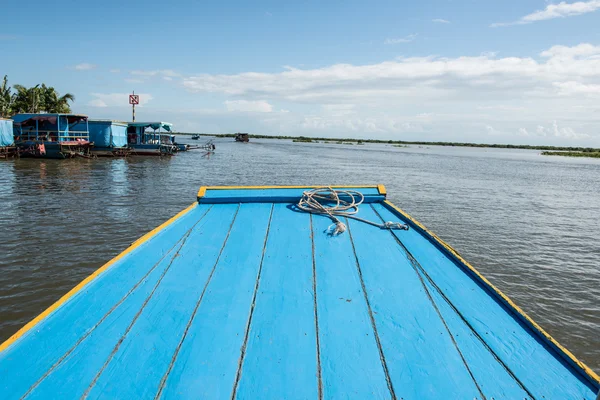
<path id="1" fill-rule="evenodd" d="M 133 155 L 173 155 L 177 146 L 173 144 L 170 134 L 172 129 L 173 124 L 168 122 L 129 122 L 127 144 Z"/>

